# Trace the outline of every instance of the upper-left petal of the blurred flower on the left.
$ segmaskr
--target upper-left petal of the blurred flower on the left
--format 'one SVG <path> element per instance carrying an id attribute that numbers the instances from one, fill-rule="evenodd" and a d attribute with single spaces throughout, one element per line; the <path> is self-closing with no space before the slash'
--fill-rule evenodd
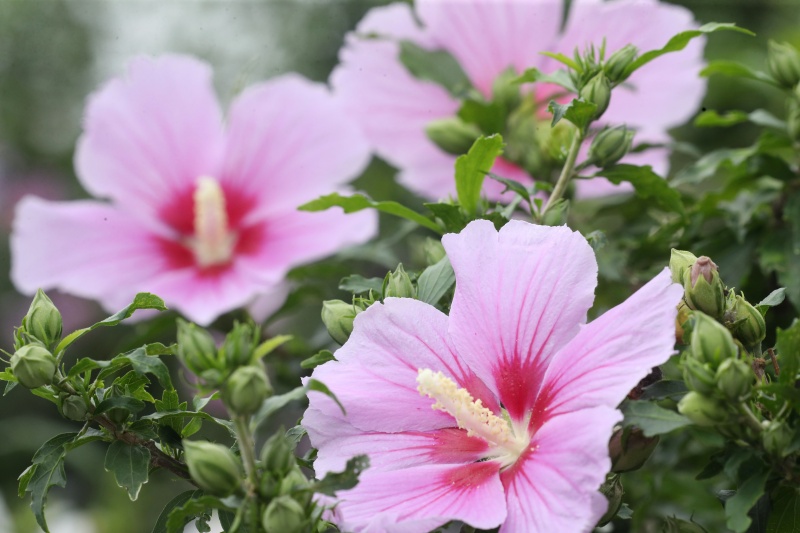
<path id="1" fill-rule="evenodd" d="M 218 177 L 224 138 L 211 69 L 184 56 L 141 57 L 89 100 L 75 166 L 86 189 L 142 220 L 201 176 Z"/>

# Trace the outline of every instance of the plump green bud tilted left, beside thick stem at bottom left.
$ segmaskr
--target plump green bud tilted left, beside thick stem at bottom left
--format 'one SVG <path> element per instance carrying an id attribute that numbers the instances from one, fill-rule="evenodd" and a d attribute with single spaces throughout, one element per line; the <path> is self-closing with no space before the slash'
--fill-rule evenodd
<path id="1" fill-rule="evenodd" d="M 215 496 L 230 496 L 239 488 L 239 460 L 229 448 L 208 441 L 183 441 L 184 459 L 192 479 Z"/>

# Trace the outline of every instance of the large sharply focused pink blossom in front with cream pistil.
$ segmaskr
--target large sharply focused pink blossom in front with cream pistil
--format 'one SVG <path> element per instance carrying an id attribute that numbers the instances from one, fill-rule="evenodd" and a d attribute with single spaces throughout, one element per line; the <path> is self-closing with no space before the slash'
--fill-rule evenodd
<path id="1" fill-rule="evenodd" d="M 597 264 L 567 227 L 475 221 L 443 244 L 450 315 L 387 298 L 312 377 L 303 418 L 316 475 L 367 454 L 337 494 L 343 531 L 590 531 L 606 510 L 616 406 L 675 342 L 682 289 L 669 270 L 586 324 Z"/>

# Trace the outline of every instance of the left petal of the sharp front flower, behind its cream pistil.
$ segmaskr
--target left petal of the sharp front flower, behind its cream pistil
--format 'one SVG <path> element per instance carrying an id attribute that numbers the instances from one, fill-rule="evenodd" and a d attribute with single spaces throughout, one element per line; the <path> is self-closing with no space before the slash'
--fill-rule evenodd
<path id="1" fill-rule="evenodd" d="M 337 361 L 317 367 L 312 377 L 336 394 L 347 410 L 346 420 L 362 431 L 430 431 L 456 425 L 417 391 L 421 368 L 443 372 L 498 411 L 497 400 L 455 355 L 446 332 L 447 316 L 435 307 L 387 298 L 356 317 L 350 339 L 334 354 Z M 328 413 L 335 409 L 322 394 L 312 392 L 309 400 L 313 408 Z"/>

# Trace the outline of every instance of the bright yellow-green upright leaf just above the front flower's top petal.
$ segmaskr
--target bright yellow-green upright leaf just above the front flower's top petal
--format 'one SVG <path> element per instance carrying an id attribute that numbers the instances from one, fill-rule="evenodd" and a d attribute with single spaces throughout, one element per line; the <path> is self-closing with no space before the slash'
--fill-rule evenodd
<path id="1" fill-rule="evenodd" d="M 456 159 L 458 202 L 468 215 L 477 214 L 483 180 L 492 170 L 495 159 L 502 153 L 503 138 L 500 135 L 490 135 L 479 137 L 466 155 Z"/>

